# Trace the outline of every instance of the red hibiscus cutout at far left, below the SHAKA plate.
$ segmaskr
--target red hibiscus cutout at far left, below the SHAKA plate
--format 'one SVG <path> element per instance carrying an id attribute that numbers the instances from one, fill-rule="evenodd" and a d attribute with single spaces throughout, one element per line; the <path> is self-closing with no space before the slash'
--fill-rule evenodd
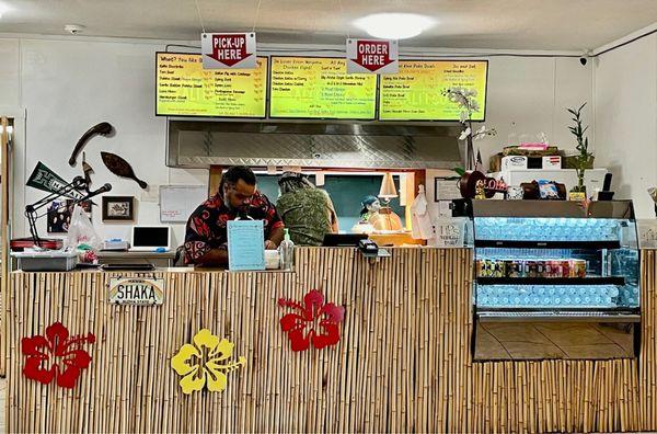
<path id="1" fill-rule="evenodd" d="M 44 385 L 56 379 L 59 387 L 76 387 L 81 370 L 87 369 L 91 363 L 89 353 L 80 349 L 85 342 L 94 343 L 95 336 L 89 333 L 69 338 L 69 332 L 61 322 L 46 328 L 45 336 L 23 338 L 21 351 L 27 357 L 23 375 Z"/>

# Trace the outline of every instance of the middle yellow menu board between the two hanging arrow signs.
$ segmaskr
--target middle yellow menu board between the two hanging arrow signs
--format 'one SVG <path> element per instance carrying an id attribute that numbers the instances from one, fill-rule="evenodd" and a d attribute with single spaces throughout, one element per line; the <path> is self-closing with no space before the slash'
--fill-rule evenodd
<path id="1" fill-rule="evenodd" d="M 347 73 L 344 58 L 272 57 L 270 117 L 373 119 L 377 76 Z"/>

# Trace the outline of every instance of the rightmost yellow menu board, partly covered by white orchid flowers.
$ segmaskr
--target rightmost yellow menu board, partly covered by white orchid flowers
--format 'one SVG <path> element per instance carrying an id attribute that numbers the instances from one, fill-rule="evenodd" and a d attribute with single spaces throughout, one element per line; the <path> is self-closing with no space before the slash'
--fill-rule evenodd
<path id="1" fill-rule="evenodd" d="M 461 108 L 442 92 L 460 87 L 476 90 L 480 108 L 472 119 L 483 121 L 487 70 L 485 60 L 402 60 L 399 73 L 381 76 L 379 118 L 459 121 Z"/>

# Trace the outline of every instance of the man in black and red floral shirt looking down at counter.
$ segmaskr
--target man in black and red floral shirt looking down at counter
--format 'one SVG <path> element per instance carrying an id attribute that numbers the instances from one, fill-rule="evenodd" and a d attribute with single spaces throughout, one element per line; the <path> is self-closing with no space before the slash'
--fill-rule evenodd
<path id="1" fill-rule="evenodd" d="M 253 171 L 243 165 L 229 168 L 217 194 L 192 213 L 185 231 L 185 263 L 228 263 L 227 222 L 235 219 L 264 220 L 265 249 L 275 250 L 283 240 L 284 225 L 276 207 L 260 193 Z"/>

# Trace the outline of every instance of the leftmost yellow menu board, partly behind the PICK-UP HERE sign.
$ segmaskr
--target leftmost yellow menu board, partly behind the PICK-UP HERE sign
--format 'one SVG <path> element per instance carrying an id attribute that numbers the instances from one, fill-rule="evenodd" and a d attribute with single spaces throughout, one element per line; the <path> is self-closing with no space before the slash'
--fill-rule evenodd
<path id="1" fill-rule="evenodd" d="M 200 55 L 158 53 L 155 114 L 265 117 L 267 58 L 256 69 L 203 69 Z"/>

